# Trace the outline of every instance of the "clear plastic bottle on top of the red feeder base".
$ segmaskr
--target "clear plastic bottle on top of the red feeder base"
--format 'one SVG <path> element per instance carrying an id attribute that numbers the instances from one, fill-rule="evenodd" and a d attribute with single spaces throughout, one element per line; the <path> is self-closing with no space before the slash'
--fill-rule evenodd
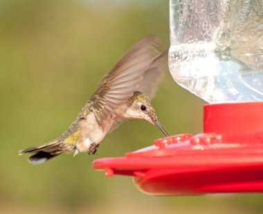
<path id="1" fill-rule="evenodd" d="M 174 80 L 210 103 L 263 100 L 263 0 L 170 0 Z"/>

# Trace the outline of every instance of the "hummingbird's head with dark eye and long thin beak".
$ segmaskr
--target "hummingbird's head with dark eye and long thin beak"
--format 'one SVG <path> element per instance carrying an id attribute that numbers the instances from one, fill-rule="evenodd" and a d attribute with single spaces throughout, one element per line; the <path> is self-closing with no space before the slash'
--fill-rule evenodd
<path id="1" fill-rule="evenodd" d="M 149 98 L 147 98 L 145 94 L 140 91 L 134 91 L 134 94 L 129 98 L 128 103 L 129 107 L 123 115 L 124 118 L 145 119 L 146 121 L 149 121 L 149 123 L 156 125 L 165 136 L 169 136 L 158 122 L 154 107 L 152 107 Z"/>

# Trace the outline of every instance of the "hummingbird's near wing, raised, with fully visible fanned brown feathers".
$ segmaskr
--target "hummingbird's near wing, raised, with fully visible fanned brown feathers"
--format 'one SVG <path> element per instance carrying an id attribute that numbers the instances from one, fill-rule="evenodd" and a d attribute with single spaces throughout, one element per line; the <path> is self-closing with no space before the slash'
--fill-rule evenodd
<path id="1" fill-rule="evenodd" d="M 148 36 L 135 44 L 107 73 L 91 97 L 96 120 L 103 126 L 105 119 L 138 89 L 147 66 L 152 62 L 157 39 Z"/>

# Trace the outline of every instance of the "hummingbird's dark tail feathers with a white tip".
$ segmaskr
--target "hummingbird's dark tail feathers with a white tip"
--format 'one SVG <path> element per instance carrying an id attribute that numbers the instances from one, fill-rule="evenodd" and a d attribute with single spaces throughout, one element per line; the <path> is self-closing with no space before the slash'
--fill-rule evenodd
<path id="1" fill-rule="evenodd" d="M 26 150 L 20 150 L 19 155 L 35 153 L 33 156 L 28 158 L 28 162 L 39 164 L 44 163 L 48 159 L 56 157 L 58 154 L 62 154 L 63 152 L 62 143 L 59 141 L 51 141 L 50 143 L 46 143 L 44 145 L 34 146 L 27 148 Z"/>

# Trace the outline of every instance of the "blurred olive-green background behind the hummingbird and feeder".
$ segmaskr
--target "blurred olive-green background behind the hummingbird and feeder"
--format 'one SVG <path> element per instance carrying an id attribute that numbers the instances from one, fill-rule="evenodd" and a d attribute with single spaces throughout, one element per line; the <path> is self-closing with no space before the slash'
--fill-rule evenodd
<path id="1" fill-rule="evenodd" d="M 131 177 L 91 168 L 163 136 L 146 121 L 123 124 L 96 156 L 32 166 L 17 155 L 64 132 L 102 75 L 149 34 L 169 46 L 168 1 L 0 1 L 1 213 L 262 213 L 262 195 L 152 197 Z M 168 133 L 202 132 L 204 102 L 168 71 L 152 104 Z"/>

